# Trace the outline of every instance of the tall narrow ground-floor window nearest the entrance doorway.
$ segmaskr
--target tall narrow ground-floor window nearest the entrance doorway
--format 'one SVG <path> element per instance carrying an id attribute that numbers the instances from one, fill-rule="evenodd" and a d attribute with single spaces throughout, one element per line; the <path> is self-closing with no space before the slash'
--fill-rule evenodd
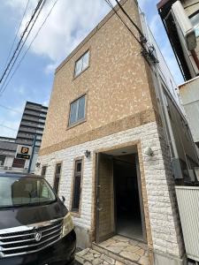
<path id="1" fill-rule="evenodd" d="M 80 208 L 81 172 L 82 172 L 82 160 L 77 160 L 75 162 L 74 180 L 73 180 L 73 201 L 72 201 L 73 212 L 79 212 Z"/>

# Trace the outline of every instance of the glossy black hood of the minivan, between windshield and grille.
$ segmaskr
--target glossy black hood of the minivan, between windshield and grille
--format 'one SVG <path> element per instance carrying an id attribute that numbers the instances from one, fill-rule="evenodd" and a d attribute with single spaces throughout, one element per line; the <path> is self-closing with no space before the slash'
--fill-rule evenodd
<path id="1" fill-rule="evenodd" d="M 62 218 L 67 209 L 59 201 L 49 205 L 0 209 L 0 230 Z"/>

